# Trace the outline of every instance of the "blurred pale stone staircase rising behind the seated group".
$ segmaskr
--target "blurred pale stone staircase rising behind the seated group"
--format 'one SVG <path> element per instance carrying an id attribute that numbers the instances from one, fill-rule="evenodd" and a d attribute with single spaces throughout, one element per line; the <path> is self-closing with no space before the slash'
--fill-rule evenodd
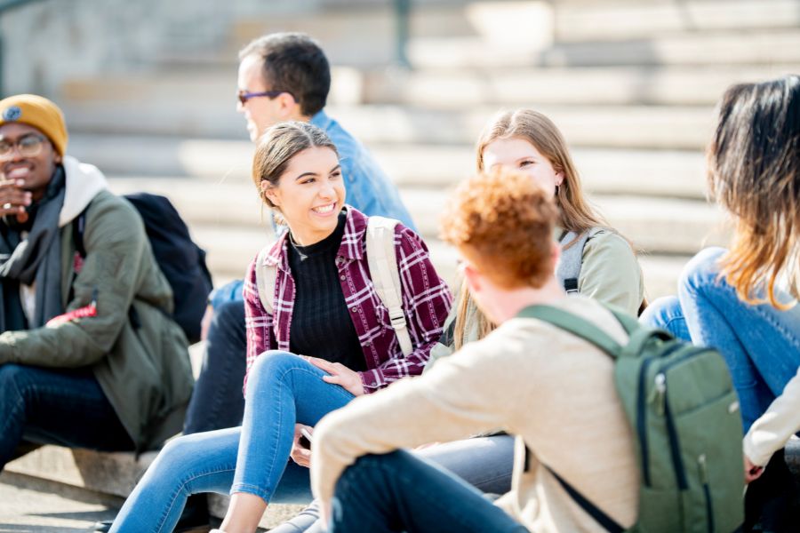
<path id="1" fill-rule="evenodd" d="M 800 0 L 420 0 L 411 70 L 388 67 L 389 2 L 232 3 L 246 4 L 246 16 L 222 44 L 164 46 L 135 71 L 75 76 L 53 95 L 69 151 L 119 193 L 168 195 L 216 282 L 241 277 L 269 239 L 234 96 L 236 51 L 268 31 L 322 42 L 334 65 L 330 115 L 396 181 L 446 279 L 455 256 L 436 235 L 448 190 L 474 171 L 489 117 L 528 106 L 559 125 L 592 202 L 641 251 L 651 299 L 675 292 L 693 253 L 727 241 L 724 215 L 705 201 L 702 150 L 716 100 L 729 84 L 800 71 Z M 38 453 L 44 459 L 24 457 L 20 471 L 47 477 L 47 454 L 63 463 L 71 452 Z M 142 465 L 111 455 L 124 484 L 112 493 L 124 494 Z M 104 464 L 108 454 L 96 457 L 82 460 Z M 93 482 L 72 471 L 68 482 Z"/>

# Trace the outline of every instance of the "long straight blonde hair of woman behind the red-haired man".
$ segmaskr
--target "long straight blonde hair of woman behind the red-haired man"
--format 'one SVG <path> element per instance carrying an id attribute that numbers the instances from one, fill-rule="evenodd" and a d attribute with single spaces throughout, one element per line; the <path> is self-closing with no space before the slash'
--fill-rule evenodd
<path id="1" fill-rule="evenodd" d="M 484 171 L 484 149 L 497 139 L 510 139 L 516 137 L 530 142 L 541 155 L 548 158 L 553 168 L 561 172 L 564 180 L 556 189 L 556 205 L 561 215 L 558 220 L 559 226 L 567 231 L 572 231 L 580 235 L 591 227 L 604 226 L 608 223 L 601 217 L 592 206 L 589 205 L 583 195 L 583 187 L 580 184 L 580 176 L 572 163 L 564 135 L 558 130 L 556 124 L 547 116 L 542 115 L 533 109 L 516 109 L 516 111 L 505 111 L 492 118 L 484 127 L 476 145 L 477 170 Z M 576 237 L 571 243 L 564 245 L 564 249 L 569 248 L 578 241 Z M 469 298 L 466 281 L 461 283 L 456 303 L 456 319 L 453 330 L 453 343 L 456 350 L 463 346 L 467 337 L 468 326 L 474 324 L 478 337 L 484 338 L 494 328 L 495 325 L 486 319 L 483 313 L 471 313 L 475 304 Z"/>

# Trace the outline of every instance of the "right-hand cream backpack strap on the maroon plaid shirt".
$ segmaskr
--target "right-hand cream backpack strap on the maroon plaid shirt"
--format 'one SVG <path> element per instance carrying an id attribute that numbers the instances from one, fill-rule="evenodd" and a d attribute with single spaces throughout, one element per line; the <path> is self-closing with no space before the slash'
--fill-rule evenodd
<path id="1" fill-rule="evenodd" d="M 397 268 L 395 251 L 397 224 L 399 221 L 395 219 L 370 217 L 366 232 L 366 255 L 372 284 L 378 292 L 380 301 L 388 308 L 389 320 L 400 342 L 400 349 L 404 355 L 408 355 L 412 353 L 412 341 L 405 322 L 403 287 L 400 284 L 400 271 Z"/>

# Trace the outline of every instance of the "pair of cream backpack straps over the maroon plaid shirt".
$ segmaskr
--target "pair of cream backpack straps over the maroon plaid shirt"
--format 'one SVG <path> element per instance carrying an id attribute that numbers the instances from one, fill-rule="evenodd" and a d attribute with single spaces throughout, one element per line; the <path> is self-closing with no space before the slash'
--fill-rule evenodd
<path id="1" fill-rule="evenodd" d="M 378 297 L 388 309 L 392 328 L 395 330 L 400 349 L 404 355 L 412 353 L 411 336 L 403 313 L 403 289 L 395 253 L 395 227 L 400 222 L 384 217 L 370 217 L 366 231 L 367 264 L 372 274 L 372 284 Z M 256 259 L 256 287 L 264 309 L 272 314 L 275 308 L 276 267 L 265 264 L 271 246 L 259 252 Z"/>

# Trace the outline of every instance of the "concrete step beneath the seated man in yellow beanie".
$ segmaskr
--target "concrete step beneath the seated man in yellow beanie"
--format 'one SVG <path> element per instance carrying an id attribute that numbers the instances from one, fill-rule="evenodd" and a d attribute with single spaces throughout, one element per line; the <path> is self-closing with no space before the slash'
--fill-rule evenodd
<path id="1" fill-rule="evenodd" d="M 43 446 L 26 456 L 13 460 L 5 465 L 4 470 L 89 489 L 105 495 L 127 497 L 156 455 L 156 452 L 146 452 L 137 459 L 134 454 L 126 452 L 108 453 L 89 449 Z M 267 513 L 260 522 L 260 527 L 275 528 L 281 522 L 300 513 L 304 506 L 269 505 Z M 227 496 L 209 495 L 209 510 L 212 516 L 222 518 L 227 509 Z"/>

